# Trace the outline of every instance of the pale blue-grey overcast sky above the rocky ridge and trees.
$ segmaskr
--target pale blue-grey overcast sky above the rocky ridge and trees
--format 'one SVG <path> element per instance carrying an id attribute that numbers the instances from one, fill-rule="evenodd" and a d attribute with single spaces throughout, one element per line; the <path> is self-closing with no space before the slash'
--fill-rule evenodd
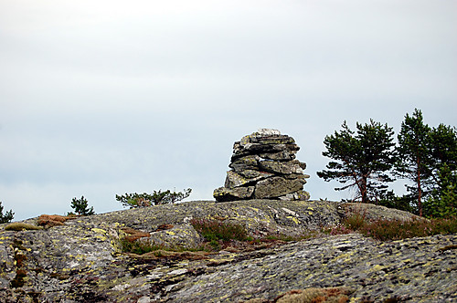
<path id="1" fill-rule="evenodd" d="M 350 198 L 316 175 L 324 137 L 397 134 L 415 108 L 456 126 L 456 29 L 452 0 L 0 0 L 0 201 L 22 220 L 212 200 L 260 128 L 301 147 L 312 199 Z"/>

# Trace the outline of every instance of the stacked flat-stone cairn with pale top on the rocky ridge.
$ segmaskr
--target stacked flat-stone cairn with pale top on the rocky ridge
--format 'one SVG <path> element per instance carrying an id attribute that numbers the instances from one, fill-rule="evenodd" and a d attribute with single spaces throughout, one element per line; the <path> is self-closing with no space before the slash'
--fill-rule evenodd
<path id="1" fill-rule="evenodd" d="M 260 129 L 233 144 L 226 183 L 213 193 L 217 202 L 273 199 L 308 200 L 303 191 L 309 175 L 295 159 L 300 147 L 280 131 Z"/>

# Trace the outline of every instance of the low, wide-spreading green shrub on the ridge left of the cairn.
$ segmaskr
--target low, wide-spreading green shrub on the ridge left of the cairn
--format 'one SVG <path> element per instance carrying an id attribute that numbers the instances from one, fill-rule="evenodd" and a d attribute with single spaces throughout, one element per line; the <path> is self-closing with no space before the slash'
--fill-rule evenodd
<path id="1" fill-rule="evenodd" d="M 137 207 L 149 207 L 152 205 L 159 204 L 174 204 L 178 201 L 186 199 L 192 189 L 187 188 L 184 192 L 171 192 L 162 190 L 154 191 L 154 193 L 125 193 L 122 195 L 116 194 L 116 200 L 122 203 L 125 207 L 137 208 Z"/>

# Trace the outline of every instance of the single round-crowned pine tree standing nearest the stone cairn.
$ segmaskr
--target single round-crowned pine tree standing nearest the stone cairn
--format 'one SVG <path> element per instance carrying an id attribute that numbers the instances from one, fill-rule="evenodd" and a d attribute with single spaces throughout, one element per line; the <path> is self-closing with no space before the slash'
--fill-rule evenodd
<path id="1" fill-rule="evenodd" d="M 325 137 L 327 150 L 323 155 L 335 161 L 329 162 L 327 170 L 317 172 L 317 175 L 326 182 L 349 182 L 335 190 L 356 187 L 356 198 L 363 203 L 377 202 L 379 196 L 386 192 L 386 183 L 393 181 L 388 175 L 395 162 L 392 128 L 374 120 L 365 125 L 357 122 L 356 132 L 351 131 L 346 122 L 342 128 L 342 131 Z"/>

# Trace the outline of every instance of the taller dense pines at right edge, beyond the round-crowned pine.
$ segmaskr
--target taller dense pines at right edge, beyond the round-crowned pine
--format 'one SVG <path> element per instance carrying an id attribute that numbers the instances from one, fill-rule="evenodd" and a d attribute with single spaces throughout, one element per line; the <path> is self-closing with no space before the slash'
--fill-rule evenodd
<path id="1" fill-rule="evenodd" d="M 398 139 L 399 161 L 395 173 L 414 183 L 406 187 L 415 213 L 428 217 L 456 215 L 455 128 L 443 124 L 430 128 L 424 124 L 422 112 L 416 109 L 412 117 L 405 116 Z"/>

